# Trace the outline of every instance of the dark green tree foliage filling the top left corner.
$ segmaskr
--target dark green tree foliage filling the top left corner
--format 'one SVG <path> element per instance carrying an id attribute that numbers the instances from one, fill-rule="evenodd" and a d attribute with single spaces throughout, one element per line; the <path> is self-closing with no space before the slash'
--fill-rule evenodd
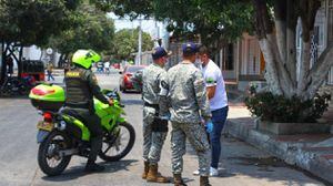
<path id="1" fill-rule="evenodd" d="M 71 24 L 79 0 L 1 0 L 0 39 L 42 45 Z"/>

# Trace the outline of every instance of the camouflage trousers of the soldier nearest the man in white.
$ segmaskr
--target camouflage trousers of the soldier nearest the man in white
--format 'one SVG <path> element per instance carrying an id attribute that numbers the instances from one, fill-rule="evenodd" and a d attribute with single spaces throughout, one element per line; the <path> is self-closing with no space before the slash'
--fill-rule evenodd
<path id="1" fill-rule="evenodd" d="M 199 157 L 200 175 L 209 176 L 210 144 L 204 127 L 199 123 L 172 122 L 171 149 L 173 174 L 181 174 L 183 170 L 183 155 L 186 153 L 186 138 Z"/>

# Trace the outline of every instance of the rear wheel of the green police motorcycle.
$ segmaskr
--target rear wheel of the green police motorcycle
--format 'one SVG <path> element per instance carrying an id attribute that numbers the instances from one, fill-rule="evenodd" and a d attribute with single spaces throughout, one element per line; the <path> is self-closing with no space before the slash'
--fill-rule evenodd
<path id="1" fill-rule="evenodd" d="M 70 148 L 71 141 L 65 133 L 52 131 L 40 144 L 38 164 L 48 176 L 60 175 L 71 161 L 71 156 L 63 156 L 59 151 Z"/>

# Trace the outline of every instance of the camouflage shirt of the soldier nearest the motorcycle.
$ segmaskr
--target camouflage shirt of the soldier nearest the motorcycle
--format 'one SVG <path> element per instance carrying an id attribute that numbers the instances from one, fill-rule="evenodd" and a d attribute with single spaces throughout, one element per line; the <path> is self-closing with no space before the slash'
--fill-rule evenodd
<path id="1" fill-rule="evenodd" d="M 160 103 L 161 83 L 167 81 L 167 71 L 155 63 L 142 73 L 142 99 L 149 104 Z"/>

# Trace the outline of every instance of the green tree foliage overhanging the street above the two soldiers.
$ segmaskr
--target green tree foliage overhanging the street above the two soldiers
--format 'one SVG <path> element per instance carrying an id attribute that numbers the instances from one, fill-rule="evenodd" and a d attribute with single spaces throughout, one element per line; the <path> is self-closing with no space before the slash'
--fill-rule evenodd
<path id="1" fill-rule="evenodd" d="M 253 7 L 238 0 L 94 0 L 115 14 L 153 17 L 168 23 L 176 38 L 200 34 L 202 42 L 214 45 L 252 31 Z"/>

